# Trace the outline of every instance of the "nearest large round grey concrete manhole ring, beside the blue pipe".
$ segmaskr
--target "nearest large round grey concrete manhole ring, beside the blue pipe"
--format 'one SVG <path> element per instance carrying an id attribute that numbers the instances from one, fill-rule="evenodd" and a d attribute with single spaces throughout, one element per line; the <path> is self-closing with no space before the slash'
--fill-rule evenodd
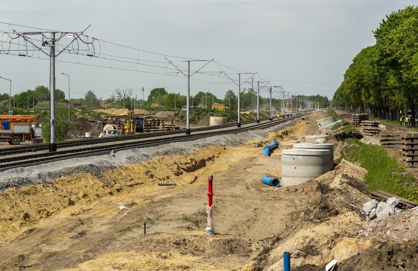
<path id="1" fill-rule="evenodd" d="M 282 150 L 283 186 L 315 179 L 329 170 L 329 150 Z"/>

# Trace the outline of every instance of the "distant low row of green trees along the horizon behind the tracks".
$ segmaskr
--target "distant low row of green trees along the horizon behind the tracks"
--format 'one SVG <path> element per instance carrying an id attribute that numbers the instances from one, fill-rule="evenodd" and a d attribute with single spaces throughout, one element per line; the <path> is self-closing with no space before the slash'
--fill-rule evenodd
<path id="1" fill-rule="evenodd" d="M 162 110 L 179 110 L 186 108 L 187 106 L 187 96 L 180 93 L 168 92 L 165 88 L 155 88 L 150 91 L 146 100 L 137 99 L 133 97 L 132 88 L 116 88 L 114 92 L 110 95 L 109 98 L 103 99 L 98 98 L 98 96 L 92 91 L 89 90 L 84 98 L 71 98 L 70 102 L 73 106 L 91 106 L 92 108 L 98 108 L 105 104 L 107 107 L 116 107 L 116 108 L 145 108 L 149 109 L 154 106 L 158 106 Z M 268 95 L 268 93 L 264 93 Z M 319 102 L 319 107 L 326 107 L 328 105 L 328 98 L 325 96 L 314 95 L 314 96 L 304 96 L 298 95 L 293 96 L 289 108 L 296 108 L 297 101 L 296 98 L 308 99 L 314 102 Z M 49 102 L 50 92 L 49 89 L 45 86 L 37 86 L 34 90 L 27 90 L 14 94 L 11 97 L 11 107 L 20 108 L 20 109 L 32 109 L 38 103 Z M 67 104 L 69 101 L 66 97 L 64 91 L 56 89 L 55 90 L 55 101 Z M 285 101 L 289 103 L 288 97 L 285 97 Z M 191 107 L 198 108 L 207 108 L 211 109 L 212 103 L 223 103 L 229 110 L 237 110 L 238 96 L 234 90 L 227 90 L 223 97 L 217 97 L 212 92 L 208 91 L 199 91 L 195 95 L 189 97 L 189 104 Z M 272 108 L 280 109 L 282 107 L 283 96 L 281 93 L 273 92 L 272 93 Z M 245 111 L 254 112 L 257 109 L 257 91 L 252 88 L 243 89 L 240 92 L 240 108 Z M 102 105 L 101 105 L 102 104 Z M 158 105 L 157 105 L 158 104 Z M 9 94 L 3 93 L 0 94 L 0 110 L 6 112 L 9 105 Z M 268 110 L 270 107 L 270 98 L 262 97 L 260 94 L 259 97 L 259 108 L 260 111 Z M 59 107 L 59 106 L 58 106 Z"/>

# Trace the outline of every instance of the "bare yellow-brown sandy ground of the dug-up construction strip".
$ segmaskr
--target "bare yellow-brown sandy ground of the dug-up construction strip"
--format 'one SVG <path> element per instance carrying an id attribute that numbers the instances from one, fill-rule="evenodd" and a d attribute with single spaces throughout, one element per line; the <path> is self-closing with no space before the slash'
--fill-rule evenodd
<path id="1" fill-rule="evenodd" d="M 101 178 L 85 173 L 1 191 L 0 270 L 273 271 L 283 270 L 285 251 L 293 271 L 324 270 L 332 259 L 338 271 L 417 270 L 416 232 L 402 233 L 416 227 L 418 211 L 365 221 L 364 169 L 343 161 L 300 185 L 261 182 L 280 179 L 281 150 L 315 134 L 319 118 L 238 146 L 119 166 Z M 279 148 L 263 156 L 272 140 Z M 205 235 L 209 174 L 212 237 Z M 399 223 L 405 227 L 395 230 Z"/>

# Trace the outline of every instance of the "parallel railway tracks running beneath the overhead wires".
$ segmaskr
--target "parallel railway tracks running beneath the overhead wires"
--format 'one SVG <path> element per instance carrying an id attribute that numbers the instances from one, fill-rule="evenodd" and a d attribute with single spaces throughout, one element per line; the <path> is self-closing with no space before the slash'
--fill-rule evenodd
<path id="1" fill-rule="evenodd" d="M 237 123 L 228 123 L 216 126 L 190 129 L 190 134 L 185 130 L 174 130 L 156 133 L 121 135 L 116 137 L 90 138 L 72 141 L 56 142 L 57 151 L 49 152 L 49 143 L 17 146 L 14 148 L 0 149 L 0 171 L 16 167 L 40 165 L 47 162 L 95 155 L 109 154 L 110 152 L 127 150 L 132 148 L 153 147 L 171 142 L 189 141 L 199 138 L 222 134 L 236 134 L 240 132 L 265 129 L 280 123 L 299 119 L 304 114 L 289 116 L 280 120 L 261 119 Z"/>

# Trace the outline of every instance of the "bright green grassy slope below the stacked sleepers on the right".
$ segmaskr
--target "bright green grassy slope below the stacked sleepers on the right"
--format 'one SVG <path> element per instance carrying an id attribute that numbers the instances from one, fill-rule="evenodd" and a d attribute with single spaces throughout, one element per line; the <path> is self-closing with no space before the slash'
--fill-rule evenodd
<path id="1" fill-rule="evenodd" d="M 347 138 L 344 142 L 344 159 L 352 163 L 357 162 L 368 171 L 365 181 L 369 190 L 385 190 L 418 200 L 414 176 L 407 174 L 405 166 L 399 165 L 396 159 L 389 157 L 385 149 L 364 144 L 355 138 Z"/>

